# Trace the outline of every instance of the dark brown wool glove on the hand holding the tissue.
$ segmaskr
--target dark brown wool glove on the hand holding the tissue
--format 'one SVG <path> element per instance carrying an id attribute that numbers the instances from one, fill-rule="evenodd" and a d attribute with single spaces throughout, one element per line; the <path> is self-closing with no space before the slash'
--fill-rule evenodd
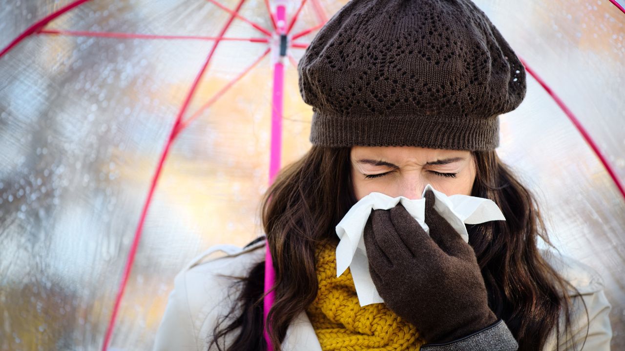
<path id="1" fill-rule="evenodd" d="M 369 272 L 384 303 L 429 344 L 445 343 L 497 321 L 471 245 L 426 194 L 427 235 L 403 205 L 372 210 L 364 227 Z"/>

